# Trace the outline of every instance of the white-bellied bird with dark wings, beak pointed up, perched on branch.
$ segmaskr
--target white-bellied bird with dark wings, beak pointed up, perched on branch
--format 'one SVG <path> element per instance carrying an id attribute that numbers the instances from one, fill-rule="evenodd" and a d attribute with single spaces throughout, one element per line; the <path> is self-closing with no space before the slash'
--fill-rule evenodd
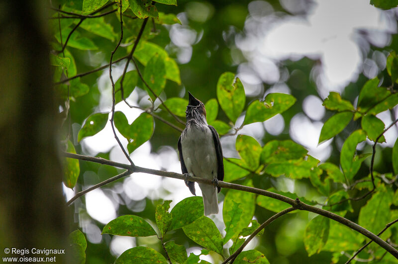
<path id="1" fill-rule="evenodd" d="M 186 127 L 178 139 L 181 171 L 185 175 L 185 184 L 196 196 L 195 182 L 187 180 L 189 176 L 210 179 L 214 185 L 201 184 L 204 215 L 218 213 L 217 193 L 221 188 L 218 181 L 224 179 L 222 148 L 217 131 L 206 121 L 206 110 L 202 102 L 190 92 L 186 110 Z"/>

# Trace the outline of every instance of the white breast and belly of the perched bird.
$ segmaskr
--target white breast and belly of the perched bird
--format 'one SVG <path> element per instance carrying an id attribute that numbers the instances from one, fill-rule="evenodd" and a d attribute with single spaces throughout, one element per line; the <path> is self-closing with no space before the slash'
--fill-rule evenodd
<path id="1" fill-rule="evenodd" d="M 181 139 L 184 163 L 189 174 L 214 179 L 217 177 L 217 156 L 213 135 L 207 126 L 190 126 Z"/>

